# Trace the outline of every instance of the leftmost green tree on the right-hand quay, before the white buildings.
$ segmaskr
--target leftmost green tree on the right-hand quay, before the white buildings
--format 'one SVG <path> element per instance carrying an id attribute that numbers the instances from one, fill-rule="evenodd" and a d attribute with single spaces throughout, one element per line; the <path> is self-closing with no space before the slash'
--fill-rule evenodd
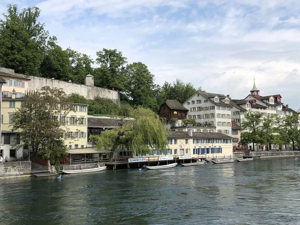
<path id="1" fill-rule="evenodd" d="M 243 131 L 240 135 L 240 142 L 242 145 L 252 143 L 253 150 L 255 143 L 263 143 L 261 137 L 262 115 L 261 112 L 247 111 L 244 115 L 245 120 L 241 122 Z"/>

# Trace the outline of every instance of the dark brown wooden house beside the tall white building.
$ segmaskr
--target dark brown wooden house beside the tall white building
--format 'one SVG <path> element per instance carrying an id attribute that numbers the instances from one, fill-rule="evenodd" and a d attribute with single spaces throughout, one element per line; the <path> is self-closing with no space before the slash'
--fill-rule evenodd
<path id="1" fill-rule="evenodd" d="M 186 119 L 187 111 L 188 109 L 183 107 L 178 100 L 167 99 L 165 103 L 160 105 L 158 114 L 167 120 L 171 118 Z"/>

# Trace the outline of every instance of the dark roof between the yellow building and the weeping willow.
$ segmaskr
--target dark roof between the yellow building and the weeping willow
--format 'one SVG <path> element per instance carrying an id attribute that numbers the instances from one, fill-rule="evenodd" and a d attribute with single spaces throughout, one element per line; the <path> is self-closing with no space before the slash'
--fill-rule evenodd
<path id="1" fill-rule="evenodd" d="M 119 118 L 108 116 L 87 116 L 87 127 L 95 128 L 114 128 L 120 127 L 121 123 L 125 124 L 128 121 L 132 121 L 132 118 Z"/>

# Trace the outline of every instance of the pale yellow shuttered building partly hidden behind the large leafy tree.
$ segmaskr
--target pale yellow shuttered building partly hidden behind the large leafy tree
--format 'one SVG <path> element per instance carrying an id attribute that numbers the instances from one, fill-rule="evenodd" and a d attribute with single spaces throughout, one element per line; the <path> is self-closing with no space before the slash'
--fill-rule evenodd
<path id="1" fill-rule="evenodd" d="M 24 97 L 17 98 L 14 94 L 12 97 L 2 98 L 2 135 L 1 135 L 1 152 L 3 158 L 21 158 L 27 155 L 27 149 L 16 150 L 14 145 L 20 143 L 19 135 L 11 131 L 11 119 L 14 112 L 21 107 Z M 66 122 L 68 134 L 65 135 L 64 143 L 69 149 L 87 147 L 87 106 L 86 104 L 70 103 L 74 111 L 69 112 L 62 119 Z M 71 138 L 69 138 L 71 137 Z M 10 159 L 11 160 L 11 159 Z"/>

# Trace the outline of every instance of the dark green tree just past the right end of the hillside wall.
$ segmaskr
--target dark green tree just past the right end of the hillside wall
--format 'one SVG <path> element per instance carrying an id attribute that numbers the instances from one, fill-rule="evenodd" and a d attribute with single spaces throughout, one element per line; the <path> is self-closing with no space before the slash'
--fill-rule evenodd
<path id="1" fill-rule="evenodd" d="M 150 73 L 148 67 L 141 62 L 133 62 L 126 66 L 126 76 L 128 78 L 127 95 L 132 105 L 148 107 L 154 111 L 158 109 L 155 99 L 154 75 Z"/>

